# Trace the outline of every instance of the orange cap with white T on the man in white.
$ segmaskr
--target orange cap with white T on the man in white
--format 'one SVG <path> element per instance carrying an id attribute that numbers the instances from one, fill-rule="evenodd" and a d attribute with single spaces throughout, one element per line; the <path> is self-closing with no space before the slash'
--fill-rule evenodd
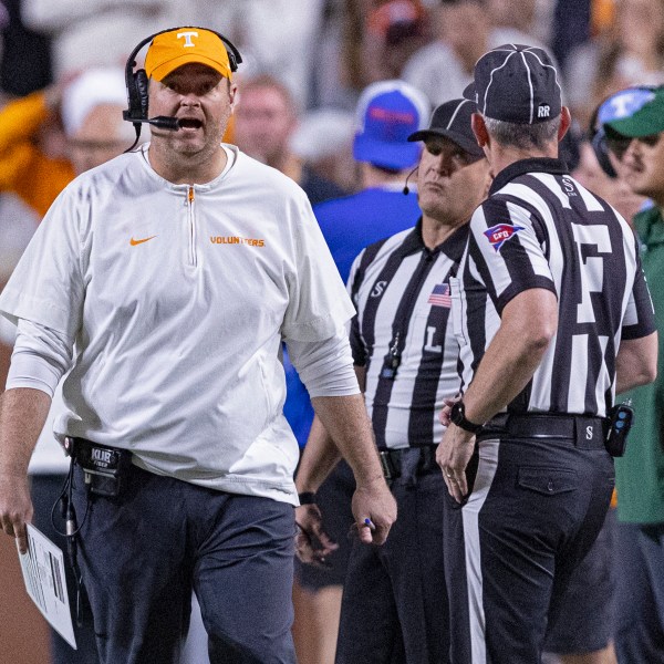
<path id="1" fill-rule="evenodd" d="M 230 62 L 224 42 L 201 28 L 177 28 L 153 39 L 145 55 L 145 73 L 162 81 L 183 64 L 198 62 L 230 80 Z"/>

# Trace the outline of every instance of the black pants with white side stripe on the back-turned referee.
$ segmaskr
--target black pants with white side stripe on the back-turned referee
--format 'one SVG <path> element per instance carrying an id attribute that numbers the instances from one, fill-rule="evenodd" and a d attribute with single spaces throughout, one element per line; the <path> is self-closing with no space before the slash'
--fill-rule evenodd
<path id="1" fill-rule="evenodd" d="M 547 619 L 556 620 L 614 486 L 596 428 L 590 440 L 580 427 L 569 438 L 480 435 L 467 502 L 445 501 L 453 664 L 541 661 Z"/>

